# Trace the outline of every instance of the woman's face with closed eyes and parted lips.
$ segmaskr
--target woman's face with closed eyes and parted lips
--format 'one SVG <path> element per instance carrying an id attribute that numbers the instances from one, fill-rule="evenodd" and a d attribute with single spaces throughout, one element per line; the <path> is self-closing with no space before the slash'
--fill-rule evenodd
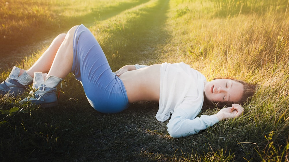
<path id="1" fill-rule="evenodd" d="M 213 102 L 229 101 L 237 103 L 241 100 L 243 91 L 243 84 L 231 79 L 215 79 L 204 82 L 205 97 Z"/>

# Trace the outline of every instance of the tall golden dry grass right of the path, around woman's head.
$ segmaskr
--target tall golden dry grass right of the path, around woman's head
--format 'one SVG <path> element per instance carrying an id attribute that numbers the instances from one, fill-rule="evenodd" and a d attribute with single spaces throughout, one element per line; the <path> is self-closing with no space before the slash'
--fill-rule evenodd
<path id="1" fill-rule="evenodd" d="M 208 1 L 196 1 L 194 5 L 189 2 L 178 5 L 179 8 L 188 6 L 191 14 L 169 22 L 174 25 L 171 32 L 177 39 L 168 44 L 173 50 L 167 52 L 164 59 L 191 64 L 208 80 L 234 77 L 257 84 L 257 92 L 245 108 L 243 117 L 234 123 L 225 121 L 218 125 L 234 130 L 223 132 L 216 128 L 217 134 L 231 144 L 214 144 L 211 147 L 230 148 L 231 152 L 240 148 L 242 151 L 237 149 L 238 154 L 234 154 L 239 160 L 242 156 L 248 161 L 251 158 L 254 161 L 286 160 L 289 128 L 286 113 L 289 96 L 287 1 L 260 6 L 265 8 L 263 13 L 235 16 L 216 16 L 220 8 L 204 12 L 212 10 L 208 8 L 209 4 Z M 259 10 L 255 8 L 255 11 Z M 174 13 L 171 13 L 173 17 Z M 241 138 L 228 139 L 229 136 Z M 256 153 L 260 156 L 254 157 Z"/>

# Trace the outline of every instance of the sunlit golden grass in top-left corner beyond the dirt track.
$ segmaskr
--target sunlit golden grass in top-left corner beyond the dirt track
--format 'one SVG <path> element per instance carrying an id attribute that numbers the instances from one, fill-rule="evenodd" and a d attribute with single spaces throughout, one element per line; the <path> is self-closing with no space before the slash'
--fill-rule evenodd
<path id="1" fill-rule="evenodd" d="M 128 2 L 133 4 L 137 1 L 98 0 L 97 3 L 95 3 L 95 1 L 92 0 L 1 0 L 0 17 L 2 27 L 0 28 L 0 33 L 3 37 L 9 39 L 9 37 L 15 37 L 17 34 L 21 34 L 20 32 L 30 33 L 29 30 L 34 31 L 36 28 L 42 28 L 42 30 L 43 28 L 55 29 L 67 23 L 71 26 L 73 24 L 69 21 L 73 18 L 101 12 L 101 9 L 116 7 Z M 99 19 L 100 16 L 102 16 L 100 13 L 94 15 L 95 19 Z"/>

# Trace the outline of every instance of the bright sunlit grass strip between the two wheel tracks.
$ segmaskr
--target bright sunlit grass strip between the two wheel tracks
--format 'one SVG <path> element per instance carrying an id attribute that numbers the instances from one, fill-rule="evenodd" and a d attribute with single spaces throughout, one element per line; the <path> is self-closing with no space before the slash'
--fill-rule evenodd
<path id="1" fill-rule="evenodd" d="M 137 33 L 131 32 L 131 22 L 138 20 L 142 15 L 147 14 L 147 9 L 156 6 L 158 1 L 152 0 L 143 3 L 131 9 L 121 12 L 108 20 L 97 21 L 94 26 L 91 26 L 93 35 L 100 42 L 108 62 L 115 71 L 120 68 L 121 60 L 125 56 L 125 64 L 136 60 L 136 58 L 129 58 L 129 53 L 122 53 L 121 49 L 129 45 L 129 37 L 140 37 Z M 113 34 L 112 34 L 113 33 Z M 129 47 L 128 47 L 129 48 Z"/>

